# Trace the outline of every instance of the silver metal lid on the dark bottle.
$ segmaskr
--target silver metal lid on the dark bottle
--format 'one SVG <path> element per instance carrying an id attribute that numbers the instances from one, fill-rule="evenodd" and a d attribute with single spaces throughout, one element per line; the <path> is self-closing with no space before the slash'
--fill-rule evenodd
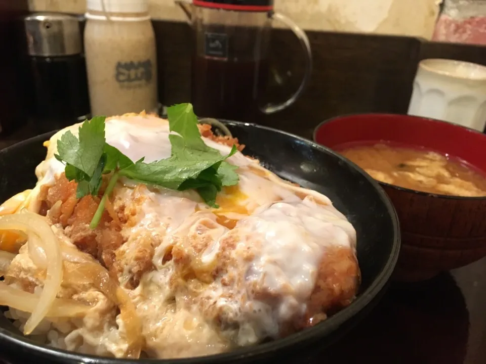
<path id="1" fill-rule="evenodd" d="M 69 56 L 82 53 L 79 20 L 60 13 L 35 13 L 24 18 L 30 56 Z"/>

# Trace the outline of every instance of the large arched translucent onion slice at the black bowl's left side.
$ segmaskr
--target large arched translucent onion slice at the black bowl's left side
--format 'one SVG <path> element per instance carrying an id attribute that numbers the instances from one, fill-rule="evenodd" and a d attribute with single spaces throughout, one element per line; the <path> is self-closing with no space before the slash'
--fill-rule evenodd
<path id="1" fill-rule="evenodd" d="M 30 334 L 49 312 L 62 282 L 62 256 L 59 242 L 45 217 L 32 212 L 22 212 L 0 217 L 0 230 L 20 230 L 28 235 L 36 235 L 45 254 L 47 264 L 46 280 L 38 304 L 32 310 L 27 320 L 24 334 Z"/>

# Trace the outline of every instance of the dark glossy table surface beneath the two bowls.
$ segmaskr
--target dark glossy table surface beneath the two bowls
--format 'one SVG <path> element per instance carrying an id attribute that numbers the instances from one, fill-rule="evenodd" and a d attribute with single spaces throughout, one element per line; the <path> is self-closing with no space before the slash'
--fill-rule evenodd
<path id="1" fill-rule="evenodd" d="M 31 128 L 24 127 L 0 139 L 0 149 L 31 135 Z M 392 283 L 371 314 L 335 345 L 279 361 L 484 364 L 486 258 L 427 282 Z"/>

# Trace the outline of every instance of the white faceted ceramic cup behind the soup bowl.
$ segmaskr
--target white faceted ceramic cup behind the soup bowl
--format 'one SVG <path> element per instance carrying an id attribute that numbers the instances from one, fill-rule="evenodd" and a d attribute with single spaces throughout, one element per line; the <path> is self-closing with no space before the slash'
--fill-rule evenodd
<path id="1" fill-rule="evenodd" d="M 421 61 L 409 115 L 449 121 L 482 132 L 486 125 L 486 67 L 448 59 Z"/>

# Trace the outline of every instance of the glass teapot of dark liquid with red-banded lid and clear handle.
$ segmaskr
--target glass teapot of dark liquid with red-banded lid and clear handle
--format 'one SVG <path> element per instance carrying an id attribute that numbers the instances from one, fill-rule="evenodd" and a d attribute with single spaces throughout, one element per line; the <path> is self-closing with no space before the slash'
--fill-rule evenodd
<path id="1" fill-rule="evenodd" d="M 192 98 L 199 116 L 252 121 L 273 114 L 302 95 L 312 71 L 305 32 L 273 11 L 273 0 L 176 0 L 193 29 Z M 268 45 L 272 21 L 287 25 L 299 39 L 306 70 L 287 101 L 262 106 L 269 80 Z"/>

